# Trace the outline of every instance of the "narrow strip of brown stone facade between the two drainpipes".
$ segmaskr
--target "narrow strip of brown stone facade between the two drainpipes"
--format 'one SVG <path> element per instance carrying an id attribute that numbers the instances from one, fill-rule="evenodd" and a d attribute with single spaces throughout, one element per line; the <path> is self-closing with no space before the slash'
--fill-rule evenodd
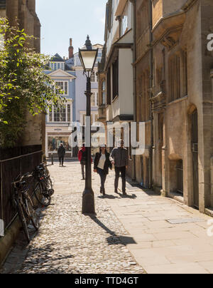
<path id="1" fill-rule="evenodd" d="M 136 58 L 133 64 L 136 77 L 136 121 L 146 125 L 146 150 L 136 155 L 135 179 L 142 187 L 151 187 L 151 2 L 135 1 L 135 48 Z M 138 136 L 137 136 L 138 137 Z M 138 140 L 138 139 L 137 139 Z"/>

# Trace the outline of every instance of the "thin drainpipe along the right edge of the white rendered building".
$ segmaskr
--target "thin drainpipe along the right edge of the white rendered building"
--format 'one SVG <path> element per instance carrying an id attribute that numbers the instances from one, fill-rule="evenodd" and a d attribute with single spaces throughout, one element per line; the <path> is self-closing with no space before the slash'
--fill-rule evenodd
<path id="1" fill-rule="evenodd" d="M 133 4 L 133 63 L 136 62 L 136 0 L 130 0 Z M 133 65 L 133 121 L 136 122 L 136 65 Z M 133 180 L 136 180 L 136 155 L 133 155 Z"/>

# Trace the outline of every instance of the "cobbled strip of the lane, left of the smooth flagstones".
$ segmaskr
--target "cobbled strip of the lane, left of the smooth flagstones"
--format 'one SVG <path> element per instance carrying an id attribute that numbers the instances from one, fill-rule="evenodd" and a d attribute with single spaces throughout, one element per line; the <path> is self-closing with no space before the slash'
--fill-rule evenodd
<path id="1" fill-rule="evenodd" d="M 143 273 L 119 236 L 131 238 L 99 193 L 97 217 L 82 215 L 80 165 L 66 165 L 50 167 L 55 182 L 52 205 L 41 212 L 40 230 L 31 244 L 25 247 L 23 238 L 18 240 L 4 273 Z M 96 185 L 97 180 L 95 176 Z"/>

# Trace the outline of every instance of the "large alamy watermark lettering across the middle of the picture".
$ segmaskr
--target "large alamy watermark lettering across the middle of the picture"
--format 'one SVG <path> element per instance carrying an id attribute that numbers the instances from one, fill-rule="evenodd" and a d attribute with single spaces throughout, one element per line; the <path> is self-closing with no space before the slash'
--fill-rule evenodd
<path id="1" fill-rule="evenodd" d="M 82 147 L 83 134 L 85 147 L 99 147 L 101 144 L 107 144 L 107 147 L 119 145 L 121 135 L 124 139 L 124 146 L 131 148 L 132 155 L 143 155 L 146 149 L 146 123 L 145 122 L 102 122 L 93 123 L 91 118 L 84 118 L 85 125 L 81 123 L 70 123 L 69 130 L 72 131 L 69 138 L 69 144 L 72 148 Z M 83 133 L 84 130 L 84 133 Z M 91 131 L 93 133 L 91 134 Z M 106 137 L 107 136 L 107 137 Z"/>

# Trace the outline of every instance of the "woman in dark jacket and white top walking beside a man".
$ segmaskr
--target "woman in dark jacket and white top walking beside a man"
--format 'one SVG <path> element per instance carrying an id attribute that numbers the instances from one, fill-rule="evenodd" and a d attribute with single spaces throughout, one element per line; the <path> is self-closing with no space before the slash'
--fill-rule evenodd
<path id="1" fill-rule="evenodd" d="M 100 146 L 100 152 L 95 155 L 94 159 L 94 172 L 98 173 L 101 178 L 101 190 L 103 195 L 105 192 L 105 182 L 107 175 L 109 174 L 109 168 L 112 169 L 111 161 L 109 160 L 109 153 L 107 152 L 107 146 L 105 144 Z"/>

